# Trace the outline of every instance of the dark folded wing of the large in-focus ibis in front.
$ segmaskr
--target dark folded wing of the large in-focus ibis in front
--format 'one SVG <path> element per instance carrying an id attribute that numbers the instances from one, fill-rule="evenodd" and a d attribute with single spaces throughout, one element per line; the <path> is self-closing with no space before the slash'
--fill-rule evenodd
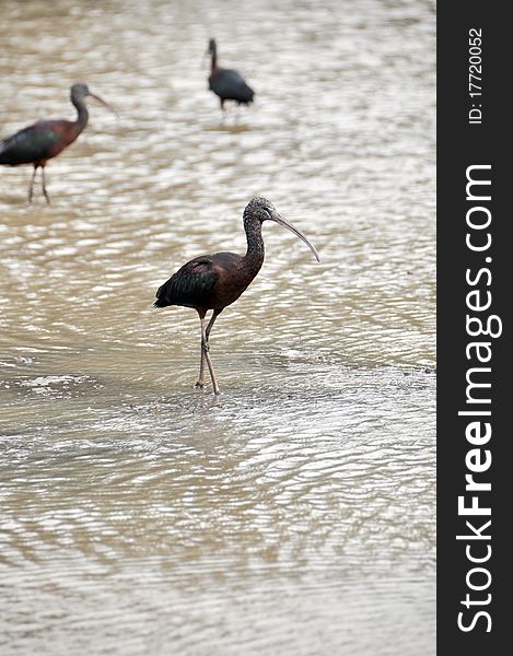
<path id="1" fill-rule="evenodd" d="M 202 256 L 184 265 L 156 292 L 155 307 L 206 305 L 213 293 L 218 274 L 212 270 L 212 258 Z"/>

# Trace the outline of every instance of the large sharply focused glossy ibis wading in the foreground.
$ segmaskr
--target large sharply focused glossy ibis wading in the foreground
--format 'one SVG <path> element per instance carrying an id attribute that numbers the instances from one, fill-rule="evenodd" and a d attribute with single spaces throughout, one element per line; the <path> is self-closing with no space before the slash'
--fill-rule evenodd
<path id="1" fill-rule="evenodd" d="M 244 210 L 244 230 L 246 232 L 246 255 L 235 253 L 214 253 L 191 259 L 164 282 L 156 292 L 155 307 L 182 305 L 193 307 L 201 321 L 201 360 L 196 387 L 203 387 L 205 363 L 209 368 L 213 391 L 219 394 L 212 360 L 210 358 L 209 336 L 212 326 L 222 311 L 234 303 L 250 284 L 264 263 L 264 239 L 261 224 L 270 220 L 293 232 L 311 248 L 319 261 L 315 247 L 304 234 L 285 221 L 265 198 L 253 198 Z M 212 309 L 208 326 L 205 316 Z"/>

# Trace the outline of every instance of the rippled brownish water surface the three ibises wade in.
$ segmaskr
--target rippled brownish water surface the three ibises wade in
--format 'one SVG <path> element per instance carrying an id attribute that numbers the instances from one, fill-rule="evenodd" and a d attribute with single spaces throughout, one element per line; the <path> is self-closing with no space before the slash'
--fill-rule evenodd
<path id="1" fill-rule="evenodd" d="M 434 654 L 434 9 L 421 0 L 0 3 L 0 651 Z M 223 118 L 210 36 L 256 103 Z M 266 262 L 219 318 L 152 308 L 187 259 Z"/>

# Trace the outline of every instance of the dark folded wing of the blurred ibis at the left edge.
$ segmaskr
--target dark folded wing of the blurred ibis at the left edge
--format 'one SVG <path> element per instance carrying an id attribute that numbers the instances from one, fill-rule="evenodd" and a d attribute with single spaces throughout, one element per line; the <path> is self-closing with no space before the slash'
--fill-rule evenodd
<path id="1" fill-rule="evenodd" d="M 62 136 L 50 121 L 39 121 L 0 141 L 0 164 L 30 164 L 50 157 Z"/>

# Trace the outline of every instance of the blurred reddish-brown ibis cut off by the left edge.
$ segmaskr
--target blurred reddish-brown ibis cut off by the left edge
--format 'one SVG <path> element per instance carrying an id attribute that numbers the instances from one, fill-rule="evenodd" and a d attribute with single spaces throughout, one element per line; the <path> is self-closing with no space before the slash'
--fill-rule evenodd
<path id="1" fill-rule="evenodd" d="M 46 163 L 72 143 L 88 125 L 89 113 L 84 101 L 86 96 L 91 96 L 114 112 L 105 101 L 91 93 L 86 84 L 73 84 L 70 90 L 70 98 L 77 107 L 77 120 L 39 120 L 0 141 L 0 164 L 7 166 L 32 164 L 34 166 L 34 174 L 28 186 L 28 202 L 32 202 L 34 180 L 39 167 L 43 194 L 46 202 L 50 202 L 45 185 Z"/>

